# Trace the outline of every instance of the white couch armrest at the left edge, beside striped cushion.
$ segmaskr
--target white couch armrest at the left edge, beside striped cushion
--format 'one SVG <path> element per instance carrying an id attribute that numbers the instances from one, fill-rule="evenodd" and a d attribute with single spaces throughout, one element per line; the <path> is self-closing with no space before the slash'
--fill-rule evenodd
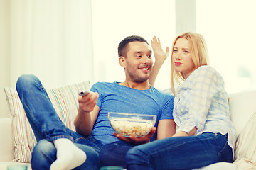
<path id="1" fill-rule="evenodd" d="M 0 118 L 0 162 L 14 159 L 14 140 L 11 118 Z"/>

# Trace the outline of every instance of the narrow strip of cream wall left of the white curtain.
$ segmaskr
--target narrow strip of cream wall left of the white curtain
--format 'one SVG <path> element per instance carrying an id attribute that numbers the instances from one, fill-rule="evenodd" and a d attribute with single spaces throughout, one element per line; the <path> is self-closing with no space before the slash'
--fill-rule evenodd
<path id="1" fill-rule="evenodd" d="M 10 85 L 9 79 L 9 0 L 0 1 L 0 118 L 9 117 L 4 94 L 4 86 Z"/>

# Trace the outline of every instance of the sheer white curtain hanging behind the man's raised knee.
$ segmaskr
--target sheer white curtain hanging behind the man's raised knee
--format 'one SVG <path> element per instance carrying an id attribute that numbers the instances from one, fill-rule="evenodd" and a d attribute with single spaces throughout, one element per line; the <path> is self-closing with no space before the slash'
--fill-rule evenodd
<path id="1" fill-rule="evenodd" d="M 91 0 L 11 0 L 11 86 L 35 74 L 47 88 L 93 80 Z"/>

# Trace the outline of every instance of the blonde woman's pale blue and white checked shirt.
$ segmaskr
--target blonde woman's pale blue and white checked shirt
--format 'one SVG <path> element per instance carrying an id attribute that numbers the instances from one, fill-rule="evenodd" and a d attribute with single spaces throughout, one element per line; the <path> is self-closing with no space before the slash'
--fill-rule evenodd
<path id="1" fill-rule="evenodd" d="M 228 144 L 234 151 L 236 135 L 230 120 L 228 94 L 223 78 L 213 67 L 199 67 L 176 90 L 173 115 L 176 132 L 190 132 L 196 126 L 195 135 L 228 133 Z"/>

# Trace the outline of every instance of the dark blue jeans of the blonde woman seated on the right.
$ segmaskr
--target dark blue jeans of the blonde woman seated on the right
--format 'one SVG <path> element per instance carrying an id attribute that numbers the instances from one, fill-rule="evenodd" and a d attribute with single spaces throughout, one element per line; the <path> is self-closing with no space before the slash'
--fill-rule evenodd
<path id="1" fill-rule="evenodd" d="M 227 138 L 228 135 L 205 132 L 139 145 L 129 149 L 127 169 L 196 169 L 216 162 L 233 162 Z"/>

